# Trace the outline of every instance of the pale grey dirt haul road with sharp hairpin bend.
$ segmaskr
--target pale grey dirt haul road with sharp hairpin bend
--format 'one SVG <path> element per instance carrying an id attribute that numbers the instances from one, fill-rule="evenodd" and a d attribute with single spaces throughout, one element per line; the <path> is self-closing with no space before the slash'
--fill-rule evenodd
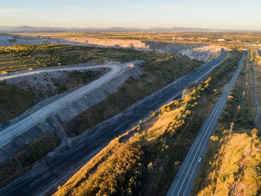
<path id="1" fill-rule="evenodd" d="M 24 130 L 39 123 L 41 120 L 45 119 L 50 114 L 58 111 L 59 109 L 66 106 L 70 102 L 79 98 L 80 96 L 99 87 L 100 85 L 107 82 L 111 78 L 114 78 L 119 73 L 121 73 L 123 70 L 125 70 L 128 66 L 134 64 L 135 62 L 139 62 L 139 61 L 132 61 L 131 63 L 128 63 L 128 64 L 125 63 L 125 64 L 113 64 L 113 65 L 97 65 L 97 66 L 88 66 L 88 67 L 63 68 L 63 70 L 82 70 L 82 69 L 91 69 L 91 68 L 99 68 L 99 67 L 108 67 L 108 68 L 110 68 L 110 71 L 108 73 L 104 74 L 99 79 L 94 80 L 93 82 L 60 97 L 59 99 L 44 105 L 43 107 L 41 107 L 41 108 L 37 109 L 36 111 L 34 111 L 33 113 L 29 114 L 28 116 L 26 116 L 22 119 L 19 119 L 17 122 L 0 130 L 0 147 L 4 146 L 7 142 L 9 142 L 15 136 L 19 135 Z M 30 75 L 30 74 L 37 74 L 38 72 L 51 72 L 51 71 L 58 71 L 58 70 L 60 70 L 60 69 L 59 68 L 48 68 L 48 69 L 39 69 L 39 70 L 33 70 L 33 71 L 25 71 L 25 72 L 20 72 L 20 73 L 15 73 L 15 74 L 0 77 L 0 80 L 18 77 L 18 76 L 26 76 L 26 75 Z"/>

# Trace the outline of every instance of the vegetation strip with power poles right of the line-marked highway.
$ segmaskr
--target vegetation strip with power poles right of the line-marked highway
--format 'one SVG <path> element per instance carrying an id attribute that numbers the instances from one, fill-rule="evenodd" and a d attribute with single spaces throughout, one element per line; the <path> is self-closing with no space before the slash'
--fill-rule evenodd
<path id="1" fill-rule="evenodd" d="M 253 68 L 248 61 L 250 54 L 245 57 L 239 77 L 210 138 L 192 189 L 193 196 L 261 194 L 261 145 L 259 132 L 254 128 L 256 107 Z M 235 125 L 229 136 L 232 122 Z"/>

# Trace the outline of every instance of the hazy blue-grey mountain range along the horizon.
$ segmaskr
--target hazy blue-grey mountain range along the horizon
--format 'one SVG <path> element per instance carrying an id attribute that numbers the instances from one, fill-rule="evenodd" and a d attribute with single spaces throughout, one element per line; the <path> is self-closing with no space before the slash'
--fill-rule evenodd
<path id="1" fill-rule="evenodd" d="M 27 33 L 27 32 L 90 32 L 90 31 L 166 31 L 166 32 L 260 32 L 256 30 L 230 30 L 230 29 L 210 29 L 210 28 L 65 28 L 65 27 L 32 27 L 32 26 L 0 26 L 0 33 Z"/>

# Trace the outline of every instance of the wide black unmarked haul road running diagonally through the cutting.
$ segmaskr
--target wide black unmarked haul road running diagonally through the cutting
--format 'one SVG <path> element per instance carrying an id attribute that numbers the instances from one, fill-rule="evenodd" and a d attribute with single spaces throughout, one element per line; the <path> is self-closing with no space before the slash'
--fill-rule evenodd
<path id="1" fill-rule="evenodd" d="M 43 195 L 50 188 L 55 186 L 68 175 L 79 170 L 81 166 L 86 164 L 93 156 L 103 149 L 112 139 L 124 134 L 132 125 L 137 125 L 140 119 L 145 119 L 150 114 L 150 111 L 156 111 L 165 103 L 175 99 L 188 84 L 191 84 L 202 77 L 205 73 L 217 66 L 227 57 L 227 51 L 222 49 L 221 55 L 197 68 L 194 72 L 187 74 L 167 87 L 145 97 L 143 100 L 136 103 L 133 107 L 123 112 L 113 119 L 110 119 L 105 127 L 94 132 L 92 135 L 81 141 L 79 144 L 71 147 L 54 160 L 39 168 L 36 171 L 30 172 L 27 175 L 18 178 L 5 188 L 0 189 L 1 196 L 16 196 L 19 195 Z M 90 143 L 92 140 L 105 140 L 105 143 Z M 57 168 L 70 168 L 69 171 L 57 172 Z"/>

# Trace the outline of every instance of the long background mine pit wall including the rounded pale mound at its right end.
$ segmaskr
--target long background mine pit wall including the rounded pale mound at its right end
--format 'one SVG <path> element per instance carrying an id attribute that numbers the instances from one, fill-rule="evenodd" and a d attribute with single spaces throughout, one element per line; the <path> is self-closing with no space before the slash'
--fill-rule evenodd
<path id="1" fill-rule="evenodd" d="M 180 52 L 191 59 L 199 61 L 211 61 L 221 54 L 221 48 L 206 46 L 202 44 L 150 42 L 124 39 L 95 39 L 95 38 L 50 38 L 29 36 L 2 36 L 0 46 L 22 45 L 22 44 L 65 44 L 84 45 L 92 47 L 131 48 L 135 50 Z"/>

